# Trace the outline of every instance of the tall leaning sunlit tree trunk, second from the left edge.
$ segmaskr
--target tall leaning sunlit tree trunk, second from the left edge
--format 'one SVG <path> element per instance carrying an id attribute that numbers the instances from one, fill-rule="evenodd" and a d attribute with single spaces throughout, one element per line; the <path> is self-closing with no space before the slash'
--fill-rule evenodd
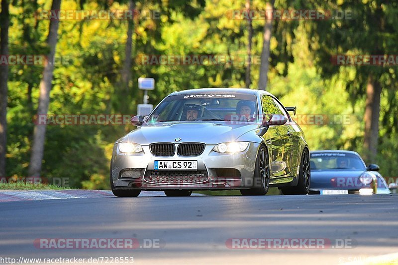
<path id="1" fill-rule="evenodd" d="M 61 7 L 61 0 L 53 0 L 51 10 L 59 10 Z M 48 105 L 50 103 L 51 81 L 53 79 L 54 71 L 54 55 L 58 38 L 59 20 L 50 21 L 50 30 L 47 37 L 47 45 L 50 48 L 50 53 L 44 62 L 43 77 L 40 81 L 40 97 L 39 106 L 37 108 L 37 115 L 47 115 Z M 32 177 L 40 176 L 42 159 L 44 153 L 44 140 L 46 135 L 46 125 L 36 125 L 33 131 L 33 145 L 30 155 L 30 163 L 28 174 Z"/>

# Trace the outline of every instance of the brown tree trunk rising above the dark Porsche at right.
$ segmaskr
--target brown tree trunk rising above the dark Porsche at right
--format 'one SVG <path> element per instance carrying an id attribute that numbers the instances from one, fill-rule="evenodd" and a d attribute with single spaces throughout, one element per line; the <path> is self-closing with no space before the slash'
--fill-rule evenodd
<path id="1" fill-rule="evenodd" d="M 379 80 L 372 75 L 369 76 L 366 87 L 365 103 L 365 135 L 364 146 L 368 150 L 366 155 L 367 162 L 376 162 L 377 145 L 379 141 L 379 116 L 380 116 L 380 97 L 382 88 Z"/>

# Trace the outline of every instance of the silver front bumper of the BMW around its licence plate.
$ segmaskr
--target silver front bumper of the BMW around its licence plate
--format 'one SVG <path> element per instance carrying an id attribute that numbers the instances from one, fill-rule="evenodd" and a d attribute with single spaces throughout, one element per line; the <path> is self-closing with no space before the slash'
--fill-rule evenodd
<path id="1" fill-rule="evenodd" d="M 163 191 L 181 190 L 232 190 L 253 187 L 253 175 L 259 143 L 251 142 L 239 153 L 217 153 L 214 145 L 206 145 L 199 156 L 154 156 L 149 146 L 142 146 L 138 154 L 120 153 L 113 147 L 110 175 L 115 189 Z M 176 144 L 176 148 L 177 148 Z M 197 160 L 197 171 L 154 170 L 155 160 Z M 129 176 L 123 172 L 133 172 Z M 232 170 L 232 171 L 231 171 Z M 233 172 L 233 174 L 229 174 Z M 222 173 L 222 174 L 220 174 Z"/>

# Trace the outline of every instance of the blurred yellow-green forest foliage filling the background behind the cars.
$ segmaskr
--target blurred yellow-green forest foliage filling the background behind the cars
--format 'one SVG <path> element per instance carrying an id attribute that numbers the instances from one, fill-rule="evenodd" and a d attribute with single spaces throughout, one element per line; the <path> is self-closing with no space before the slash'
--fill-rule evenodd
<path id="1" fill-rule="evenodd" d="M 395 4 L 355 1 L 276 1 L 278 9 L 353 9 L 353 21 L 274 21 L 271 39 L 270 92 L 299 115 L 346 115 L 344 124 L 301 125 L 310 150 L 363 150 L 363 97 L 365 76 L 375 71 L 383 84 L 380 152 L 382 174 L 394 176 L 398 157 L 398 95 L 396 67 L 332 66 L 330 56 L 347 50 L 372 53 L 379 47 L 394 54 L 397 44 Z M 305 4 L 305 6 L 304 6 Z M 246 21 L 230 19 L 228 12 L 242 10 L 245 1 L 139 1 L 139 10 L 159 10 L 160 19 L 134 20 L 131 81 L 120 85 L 125 58 L 127 21 L 64 20 L 60 23 L 57 56 L 67 57 L 54 71 L 49 114 L 134 115 L 142 102 L 138 77 L 155 78 L 150 104 L 176 90 L 199 87 L 244 87 L 245 62 L 226 65 L 145 65 L 142 55 L 222 55 L 244 58 Z M 14 0 L 10 6 L 10 54 L 46 54 L 48 20 L 34 12 L 50 9 L 50 1 Z M 374 6 L 377 6 L 374 7 Z M 62 9 L 127 9 L 128 1 L 63 0 Z M 265 2 L 252 1 L 253 9 Z M 381 18 L 379 14 L 383 14 Z M 372 24 L 369 19 L 384 19 Z M 252 55 L 260 56 L 264 21 L 253 20 Z M 352 30 L 355 28 L 356 30 Z M 378 52 L 378 51 L 375 51 Z M 326 62 L 326 63 L 325 63 Z M 252 65 L 252 88 L 257 86 L 259 62 Z M 26 176 L 30 158 L 33 117 L 37 109 L 43 66 L 10 66 L 8 98 L 7 176 Z M 392 115 L 395 114 L 395 115 Z M 296 118 L 300 120 L 300 118 Z M 71 187 L 107 189 L 113 142 L 132 130 L 130 125 L 47 126 L 42 175 L 69 178 Z"/>

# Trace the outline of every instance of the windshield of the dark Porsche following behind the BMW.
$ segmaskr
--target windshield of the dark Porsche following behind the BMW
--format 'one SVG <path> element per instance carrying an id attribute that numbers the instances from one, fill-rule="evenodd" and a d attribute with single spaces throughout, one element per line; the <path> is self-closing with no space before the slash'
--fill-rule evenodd
<path id="1" fill-rule="evenodd" d="M 362 159 L 350 153 L 311 153 L 311 170 L 365 170 Z"/>

